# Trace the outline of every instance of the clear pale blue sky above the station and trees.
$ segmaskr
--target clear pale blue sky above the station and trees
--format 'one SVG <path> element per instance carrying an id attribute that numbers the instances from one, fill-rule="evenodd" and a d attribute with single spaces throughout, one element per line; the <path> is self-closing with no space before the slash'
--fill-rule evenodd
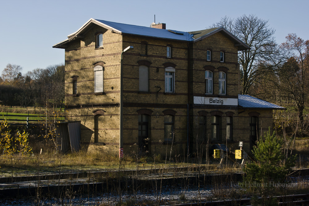
<path id="1" fill-rule="evenodd" d="M 309 39 L 308 0 L 0 0 L 0 72 L 17 64 L 23 74 L 64 63 L 64 49 L 52 48 L 90 18 L 149 27 L 197 31 L 223 16 L 254 14 L 269 20 L 277 43 L 288 33 Z"/>

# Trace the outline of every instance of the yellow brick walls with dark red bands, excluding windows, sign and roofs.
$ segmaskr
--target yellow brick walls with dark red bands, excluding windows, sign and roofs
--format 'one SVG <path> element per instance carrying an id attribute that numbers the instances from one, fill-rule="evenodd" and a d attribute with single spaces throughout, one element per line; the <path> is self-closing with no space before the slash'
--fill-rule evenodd
<path id="1" fill-rule="evenodd" d="M 96 35 L 103 34 L 103 47 L 97 48 Z M 239 93 L 238 48 L 235 40 L 217 32 L 200 41 L 181 41 L 119 34 L 94 24 L 83 36 L 66 43 L 65 90 L 66 120 L 81 121 L 81 147 L 87 150 L 117 152 L 119 150 L 120 68 L 123 53 L 123 140 L 124 152 L 136 152 L 139 147 L 139 116 L 148 116 L 148 151 L 166 154 L 171 142 L 165 141 L 164 116 L 174 117 L 173 155 L 195 153 L 197 147 L 228 144 L 238 149 L 250 149 L 250 116 L 258 116 L 258 131 L 272 128 L 272 110 L 250 110 L 238 106 L 198 105 L 194 97 L 237 99 Z M 171 47 L 171 58 L 167 57 Z M 207 61 L 207 50 L 211 61 Z M 224 52 L 224 62 L 220 62 Z M 102 65 L 103 91 L 94 93 L 94 66 Z M 139 91 L 139 67 L 149 68 L 149 90 Z M 166 68 L 175 69 L 174 92 L 165 92 Z M 205 70 L 213 71 L 213 94 L 205 94 Z M 226 95 L 219 95 L 218 74 L 226 73 Z M 73 94 L 73 79 L 77 79 L 77 94 Z M 160 89 L 161 88 L 161 89 Z M 188 110 L 189 108 L 189 110 Z M 253 113 L 252 113 L 253 112 Z M 212 139 L 211 116 L 220 117 L 218 140 Z M 196 141 L 199 118 L 205 116 L 204 141 Z M 232 117 L 232 139 L 226 141 L 226 116 Z M 209 143 L 209 144 L 207 144 Z M 197 146 L 197 144 L 201 144 Z"/>

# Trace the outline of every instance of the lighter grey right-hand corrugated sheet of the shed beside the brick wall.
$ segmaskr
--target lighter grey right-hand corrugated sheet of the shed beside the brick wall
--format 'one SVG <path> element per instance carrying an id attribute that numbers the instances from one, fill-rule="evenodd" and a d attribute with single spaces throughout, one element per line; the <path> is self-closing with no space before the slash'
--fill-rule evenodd
<path id="1" fill-rule="evenodd" d="M 80 121 L 68 123 L 69 137 L 72 152 L 80 149 Z"/>

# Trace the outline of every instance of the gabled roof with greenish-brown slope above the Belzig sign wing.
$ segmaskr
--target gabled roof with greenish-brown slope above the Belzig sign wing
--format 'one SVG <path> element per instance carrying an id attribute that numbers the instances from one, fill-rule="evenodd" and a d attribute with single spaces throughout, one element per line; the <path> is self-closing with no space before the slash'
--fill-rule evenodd
<path id="1" fill-rule="evenodd" d="M 250 47 L 247 44 L 245 44 L 242 40 L 234 36 L 231 32 L 227 31 L 224 27 L 215 27 L 189 33 L 193 35 L 193 42 L 196 42 L 205 39 L 206 37 L 211 36 L 217 32 L 223 32 L 228 38 L 233 40 L 235 42 L 235 46 L 238 47 L 239 51 L 250 49 Z"/>

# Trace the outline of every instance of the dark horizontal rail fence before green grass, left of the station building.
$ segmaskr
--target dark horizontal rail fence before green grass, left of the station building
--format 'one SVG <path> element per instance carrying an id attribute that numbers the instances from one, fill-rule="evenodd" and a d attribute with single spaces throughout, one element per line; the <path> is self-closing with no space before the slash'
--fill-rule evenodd
<path id="1" fill-rule="evenodd" d="M 29 115 L 29 112 L 28 112 L 28 115 L 27 114 L 24 114 L 24 115 L 10 115 L 8 114 L 8 112 L 6 112 L 6 114 L 3 114 L 2 115 L 3 118 L 0 117 L 0 120 L 4 120 L 6 119 L 8 121 L 8 124 L 12 124 L 12 125 L 26 125 L 27 128 L 29 126 L 29 122 L 46 122 L 46 118 L 47 118 L 47 121 L 50 121 L 49 118 L 52 118 L 52 121 L 56 121 L 56 122 L 64 122 L 64 117 L 65 116 L 46 116 L 46 115 Z M 4 118 L 6 117 L 6 118 Z M 19 117 L 19 118 L 15 118 L 15 119 L 9 119 L 8 117 Z M 22 118 L 20 118 L 22 117 Z M 10 121 L 15 121 L 15 123 L 11 123 Z M 17 123 L 18 122 L 18 123 Z M 25 122 L 24 124 L 23 123 L 20 123 L 20 122 Z M 36 125 L 36 124 L 33 124 L 33 125 Z"/>

